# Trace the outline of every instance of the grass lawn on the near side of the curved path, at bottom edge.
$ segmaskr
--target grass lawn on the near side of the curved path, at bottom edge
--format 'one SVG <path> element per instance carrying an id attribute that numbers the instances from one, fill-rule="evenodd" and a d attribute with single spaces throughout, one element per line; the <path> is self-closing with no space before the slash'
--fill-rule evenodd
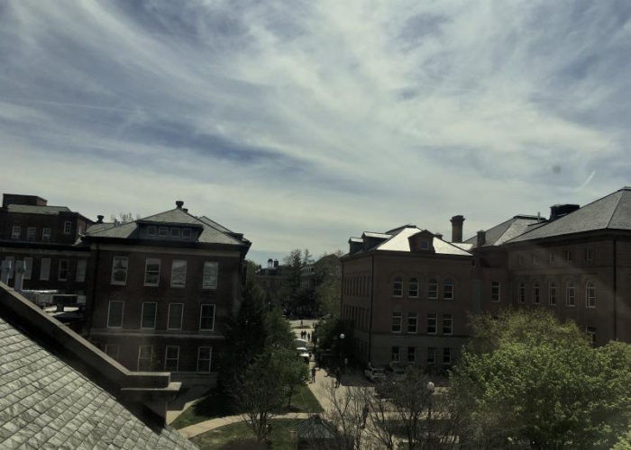
<path id="1" fill-rule="evenodd" d="M 271 449 L 290 450 L 296 448 L 296 436 L 292 433 L 300 420 L 273 419 L 271 424 L 270 446 L 257 446 L 254 434 L 245 423 L 239 422 L 216 428 L 196 437 L 191 437 L 201 450 L 210 449 Z M 235 442 L 236 441 L 236 442 Z M 233 443 L 231 446 L 230 444 Z"/>

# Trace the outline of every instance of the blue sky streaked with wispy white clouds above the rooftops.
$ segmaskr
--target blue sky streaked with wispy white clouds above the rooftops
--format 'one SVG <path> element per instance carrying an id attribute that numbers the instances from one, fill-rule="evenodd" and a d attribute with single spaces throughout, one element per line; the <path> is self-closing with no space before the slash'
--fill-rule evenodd
<path id="1" fill-rule="evenodd" d="M 631 184 L 631 2 L 0 1 L 0 189 L 252 242 L 464 238 Z"/>

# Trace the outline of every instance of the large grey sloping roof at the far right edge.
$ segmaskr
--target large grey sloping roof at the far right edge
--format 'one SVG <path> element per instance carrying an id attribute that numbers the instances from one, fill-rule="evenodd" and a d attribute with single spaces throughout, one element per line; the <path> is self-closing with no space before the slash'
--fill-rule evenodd
<path id="1" fill-rule="evenodd" d="M 623 187 L 577 211 L 529 230 L 508 240 L 508 243 L 567 236 L 600 229 L 631 230 L 631 186 Z"/>

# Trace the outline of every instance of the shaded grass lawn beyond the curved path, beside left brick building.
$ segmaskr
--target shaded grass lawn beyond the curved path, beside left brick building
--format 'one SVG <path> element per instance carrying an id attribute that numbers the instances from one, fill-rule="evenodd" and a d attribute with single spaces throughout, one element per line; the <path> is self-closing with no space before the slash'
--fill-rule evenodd
<path id="1" fill-rule="evenodd" d="M 309 390 L 306 384 L 298 387 L 297 391 L 294 392 L 294 395 L 291 397 L 290 409 L 287 408 L 287 403 L 287 400 L 283 403 L 283 408 L 279 411 L 279 414 L 285 414 L 287 412 L 315 413 L 323 411 L 320 402 L 315 399 L 313 392 Z M 238 411 L 230 408 L 230 399 L 222 392 L 212 390 L 206 394 L 206 397 L 198 400 L 187 408 L 178 419 L 175 419 L 173 423 L 171 423 L 171 427 L 177 429 L 185 428 L 205 420 L 233 416 L 238 413 Z"/>

